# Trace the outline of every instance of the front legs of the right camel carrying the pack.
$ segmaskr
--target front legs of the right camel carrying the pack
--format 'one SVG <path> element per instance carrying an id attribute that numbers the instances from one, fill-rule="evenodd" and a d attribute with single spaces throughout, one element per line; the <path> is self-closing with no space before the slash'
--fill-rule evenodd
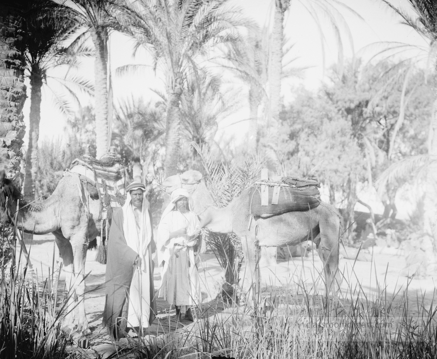
<path id="1" fill-rule="evenodd" d="M 241 243 L 245 262 L 242 292 L 246 296 L 246 303 L 252 306 L 253 299 L 258 300 L 259 295 L 259 246 L 255 244 L 253 238 L 247 236 L 241 238 Z"/>

